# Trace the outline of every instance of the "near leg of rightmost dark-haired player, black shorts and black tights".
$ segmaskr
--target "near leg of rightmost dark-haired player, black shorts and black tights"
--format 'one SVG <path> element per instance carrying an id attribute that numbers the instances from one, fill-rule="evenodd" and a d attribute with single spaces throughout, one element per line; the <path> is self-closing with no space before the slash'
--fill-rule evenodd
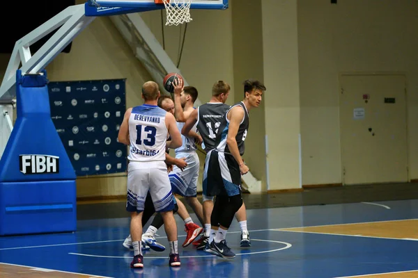
<path id="1" fill-rule="evenodd" d="M 219 213 L 217 219 L 217 221 L 219 221 L 219 229 L 212 243 L 210 243 L 210 247 L 217 250 L 219 253 L 218 256 L 222 256 L 225 259 L 231 259 L 235 257 L 235 254 L 226 245 L 226 233 L 231 226 L 235 213 L 242 206 L 241 174 L 238 163 L 230 154 L 219 152 L 218 161 L 222 179 L 224 181 L 224 194 L 222 196 L 226 195 L 228 201 L 226 202 L 226 199 L 222 198 L 222 213 Z M 217 199 L 218 197 L 220 196 L 217 195 Z M 214 211 L 217 209 L 217 201 L 215 201 Z M 212 224 L 214 224 L 213 220 Z"/>

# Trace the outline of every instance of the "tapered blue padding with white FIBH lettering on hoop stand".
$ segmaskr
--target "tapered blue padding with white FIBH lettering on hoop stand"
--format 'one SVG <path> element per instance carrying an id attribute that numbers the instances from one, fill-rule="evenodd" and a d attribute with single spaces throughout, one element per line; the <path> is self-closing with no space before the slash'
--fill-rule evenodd
<path id="1" fill-rule="evenodd" d="M 22 76 L 17 71 L 17 119 L 1 156 L 0 183 L 76 179 L 51 119 L 47 75 L 43 74 Z"/>

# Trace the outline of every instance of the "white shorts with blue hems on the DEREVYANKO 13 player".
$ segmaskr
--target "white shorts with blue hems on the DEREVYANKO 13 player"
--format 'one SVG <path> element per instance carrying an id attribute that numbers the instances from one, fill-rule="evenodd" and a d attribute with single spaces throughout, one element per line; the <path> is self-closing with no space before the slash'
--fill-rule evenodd
<path id="1" fill-rule="evenodd" d="M 127 166 L 126 210 L 144 211 L 148 191 L 156 212 L 173 210 L 174 197 L 171 193 L 166 163 L 164 161 L 131 161 Z"/>

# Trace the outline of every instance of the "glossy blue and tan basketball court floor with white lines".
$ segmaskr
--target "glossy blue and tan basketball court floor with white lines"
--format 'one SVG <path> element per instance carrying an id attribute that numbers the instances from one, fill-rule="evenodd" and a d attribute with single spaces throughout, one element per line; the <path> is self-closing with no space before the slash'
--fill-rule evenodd
<path id="1" fill-rule="evenodd" d="M 197 222 L 195 215 L 192 218 Z M 181 247 L 184 224 L 176 215 L 182 262 L 177 269 L 168 265 L 164 229 L 157 238 L 167 250 L 145 252 L 144 270 L 130 268 L 133 252 L 122 245 L 129 218 L 79 221 L 73 234 L 2 237 L 0 262 L 40 268 L 45 275 L 37 277 L 49 277 L 49 270 L 88 277 L 327 278 L 388 272 L 418 277 L 416 199 L 254 209 L 247 211 L 247 218 L 252 246 L 239 247 L 240 228 L 234 220 L 226 237 L 238 255 L 232 260 L 196 251 L 192 245 Z M 405 273 L 410 275 L 399 276 Z"/>

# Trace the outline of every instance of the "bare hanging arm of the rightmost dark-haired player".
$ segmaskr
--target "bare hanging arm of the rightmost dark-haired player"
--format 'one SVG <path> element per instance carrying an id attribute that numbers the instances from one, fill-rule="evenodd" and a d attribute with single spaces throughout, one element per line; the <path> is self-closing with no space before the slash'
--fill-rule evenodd
<path id="1" fill-rule="evenodd" d="M 242 119 L 244 118 L 244 109 L 242 109 L 242 107 L 240 106 L 235 106 L 231 109 L 231 111 L 229 111 L 229 116 L 231 118 L 229 119 L 229 128 L 228 135 L 226 136 L 226 144 L 228 145 L 229 152 L 231 152 L 233 158 L 235 158 L 235 161 L 237 161 L 238 165 L 240 165 L 241 174 L 247 174 L 248 167 L 244 164 L 244 161 L 242 161 L 242 157 L 240 155 L 240 150 L 238 149 L 238 143 L 236 140 L 238 129 L 240 127 Z"/>

